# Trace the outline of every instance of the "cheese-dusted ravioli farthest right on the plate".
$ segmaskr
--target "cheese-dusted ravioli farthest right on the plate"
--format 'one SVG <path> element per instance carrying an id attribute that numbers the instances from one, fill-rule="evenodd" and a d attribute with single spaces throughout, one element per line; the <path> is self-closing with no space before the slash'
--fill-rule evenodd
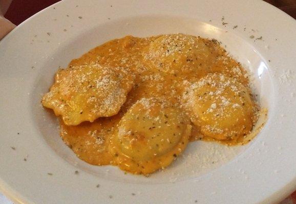
<path id="1" fill-rule="evenodd" d="M 183 102 L 205 136 L 236 140 L 252 130 L 256 105 L 250 90 L 224 74 L 208 74 L 190 85 Z"/>

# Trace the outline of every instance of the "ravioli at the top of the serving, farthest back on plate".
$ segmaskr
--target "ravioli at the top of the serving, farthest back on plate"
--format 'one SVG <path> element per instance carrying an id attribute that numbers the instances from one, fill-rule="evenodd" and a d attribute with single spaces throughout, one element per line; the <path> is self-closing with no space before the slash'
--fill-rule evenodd
<path id="1" fill-rule="evenodd" d="M 172 34 L 162 35 L 144 50 L 147 65 L 171 74 L 202 74 L 212 67 L 209 48 L 200 37 Z"/>

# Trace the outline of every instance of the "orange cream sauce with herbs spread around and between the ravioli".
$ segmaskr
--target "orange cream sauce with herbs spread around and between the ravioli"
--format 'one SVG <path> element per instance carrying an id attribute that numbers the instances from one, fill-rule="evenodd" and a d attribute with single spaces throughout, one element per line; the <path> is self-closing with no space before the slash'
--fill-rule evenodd
<path id="1" fill-rule="evenodd" d="M 231 78 L 239 80 L 244 86 L 249 86 L 246 71 L 241 64 L 230 58 L 216 40 L 198 38 L 208 49 L 208 54 L 206 60 L 203 60 L 203 56 L 199 56 L 201 61 L 195 64 L 195 66 L 199 67 L 197 71 L 186 73 L 186 71 L 178 70 L 176 72 L 167 73 L 161 70 L 163 66 L 166 66 L 162 64 L 166 63 L 165 61 L 161 62 L 158 68 L 155 68 L 154 66 L 158 66 L 158 64 L 156 64 L 158 61 L 150 63 L 146 55 L 148 55 L 149 52 L 147 49 L 149 49 L 151 44 L 159 37 L 161 36 L 149 38 L 126 36 L 121 39 L 111 40 L 90 50 L 90 52 L 84 54 L 82 57 L 72 60 L 69 64 L 69 67 L 87 65 L 90 63 L 128 67 L 136 76 L 135 85 L 128 93 L 128 97 L 117 115 L 101 117 L 94 122 L 82 122 L 76 126 L 66 125 L 60 120 L 61 138 L 80 159 L 93 165 L 119 165 L 121 169 L 136 174 L 152 173 L 170 164 L 174 160 L 174 157 L 180 152 L 172 149 L 164 155 L 162 157 L 163 166 L 149 164 L 145 166 L 146 170 L 141 170 L 138 167 L 135 167 L 133 170 L 131 169 L 133 166 L 130 167 L 131 165 L 129 164 L 129 162 L 131 162 L 130 160 L 124 161 L 122 159 L 116 159 L 119 155 L 114 149 L 112 150 L 112 148 L 114 148 L 113 145 L 110 145 L 113 141 L 112 137 L 115 137 L 117 134 L 120 119 L 136 101 L 141 98 L 161 97 L 176 106 L 182 107 L 180 98 L 184 92 L 184 87 L 182 86 L 183 81 L 189 83 L 197 82 L 208 73 L 223 73 Z M 157 46 L 161 46 L 161 44 L 157 44 Z M 161 47 L 153 47 L 153 49 L 161 49 Z M 168 50 L 168 52 L 170 52 L 170 50 Z M 195 63 L 192 58 L 186 59 L 186 61 L 188 63 Z M 253 122 L 255 123 L 256 121 Z M 205 137 L 200 132 L 199 127 L 192 122 L 190 122 L 190 125 L 191 134 L 189 141 L 201 139 L 217 141 L 216 139 Z M 183 137 L 181 140 L 184 144 L 184 140 L 186 143 L 188 137 L 187 139 Z M 229 145 L 242 144 L 243 140 L 244 138 L 240 137 L 236 140 L 223 140 L 223 143 Z M 178 145 L 180 146 L 180 144 L 181 142 Z M 126 165 L 130 166 L 125 168 L 120 162 L 125 162 Z"/>

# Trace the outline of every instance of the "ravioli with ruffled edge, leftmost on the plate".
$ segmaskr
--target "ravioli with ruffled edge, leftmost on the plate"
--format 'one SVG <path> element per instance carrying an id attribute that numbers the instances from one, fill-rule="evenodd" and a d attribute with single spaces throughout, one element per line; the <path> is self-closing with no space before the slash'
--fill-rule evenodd
<path id="1" fill-rule="evenodd" d="M 118 113 L 134 85 L 134 75 L 121 67 L 98 64 L 59 69 L 42 104 L 61 115 L 66 125 Z"/>

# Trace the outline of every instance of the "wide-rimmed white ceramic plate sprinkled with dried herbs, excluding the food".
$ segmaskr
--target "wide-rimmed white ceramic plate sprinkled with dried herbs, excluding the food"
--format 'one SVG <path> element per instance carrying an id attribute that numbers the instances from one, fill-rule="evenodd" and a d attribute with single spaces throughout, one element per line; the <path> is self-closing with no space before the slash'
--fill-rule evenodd
<path id="1" fill-rule="evenodd" d="M 253 73 L 264 129 L 242 147 L 191 143 L 150 177 L 77 159 L 40 105 L 57 68 L 114 38 L 165 33 L 226 45 Z M 296 21 L 262 1 L 65 0 L 5 37 L 0 64 L 0 190 L 16 203 L 277 203 L 296 188 Z"/>

